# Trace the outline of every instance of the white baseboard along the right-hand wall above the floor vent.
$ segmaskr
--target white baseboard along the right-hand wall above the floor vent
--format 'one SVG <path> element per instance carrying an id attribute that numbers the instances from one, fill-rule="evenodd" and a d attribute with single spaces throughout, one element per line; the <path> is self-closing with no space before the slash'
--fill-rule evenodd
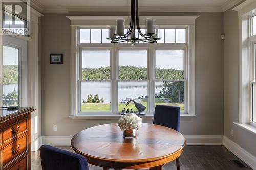
<path id="1" fill-rule="evenodd" d="M 239 157 L 242 161 L 244 161 L 247 165 L 249 165 L 252 169 L 256 170 L 256 157 L 244 150 L 240 145 L 233 142 L 226 136 L 224 136 L 224 146 L 231 151 L 234 155 Z"/>

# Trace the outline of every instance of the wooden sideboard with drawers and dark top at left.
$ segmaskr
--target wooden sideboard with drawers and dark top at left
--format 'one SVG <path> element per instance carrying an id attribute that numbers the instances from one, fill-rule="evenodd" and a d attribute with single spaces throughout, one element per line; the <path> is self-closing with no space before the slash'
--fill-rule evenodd
<path id="1" fill-rule="evenodd" d="M 31 113 L 33 107 L 0 110 L 0 169 L 31 169 Z"/>

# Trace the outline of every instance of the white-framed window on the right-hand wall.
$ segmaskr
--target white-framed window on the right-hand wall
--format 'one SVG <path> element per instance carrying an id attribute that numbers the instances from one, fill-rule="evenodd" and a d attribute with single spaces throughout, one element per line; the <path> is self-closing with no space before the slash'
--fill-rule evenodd
<path id="1" fill-rule="evenodd" d="M 239 13 L 241 15 L 241 13 Z M 239 123 L 256 126 L 256 13 L 240 19 L 240 98 Z"/>

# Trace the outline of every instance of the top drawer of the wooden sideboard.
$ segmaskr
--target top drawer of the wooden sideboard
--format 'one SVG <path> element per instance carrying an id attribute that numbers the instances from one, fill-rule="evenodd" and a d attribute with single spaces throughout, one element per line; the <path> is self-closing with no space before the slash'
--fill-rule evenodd
<path id="1" fill-rule="evenodd" d="M 24 132 L 27 129 L 28 129 L 28 119 L 27 118 L 3 129 L 3 132 L 2 132 L 3 143 L 5 143 L 5 141 L 7 141 L 8 139 L 18 135 L 19 133 Z"/>

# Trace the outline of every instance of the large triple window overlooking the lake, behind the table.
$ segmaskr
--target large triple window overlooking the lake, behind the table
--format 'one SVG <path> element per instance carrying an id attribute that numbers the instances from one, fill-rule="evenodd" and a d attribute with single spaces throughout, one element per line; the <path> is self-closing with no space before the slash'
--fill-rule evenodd
<path id="1" fill-rule="evenodd" d="M 120 113 L 171 105 L 187 113 L 187 27 L 162 28 L 159 44 L 110 44 L 108 29 L 78 28 L 78 111 Z"/>

